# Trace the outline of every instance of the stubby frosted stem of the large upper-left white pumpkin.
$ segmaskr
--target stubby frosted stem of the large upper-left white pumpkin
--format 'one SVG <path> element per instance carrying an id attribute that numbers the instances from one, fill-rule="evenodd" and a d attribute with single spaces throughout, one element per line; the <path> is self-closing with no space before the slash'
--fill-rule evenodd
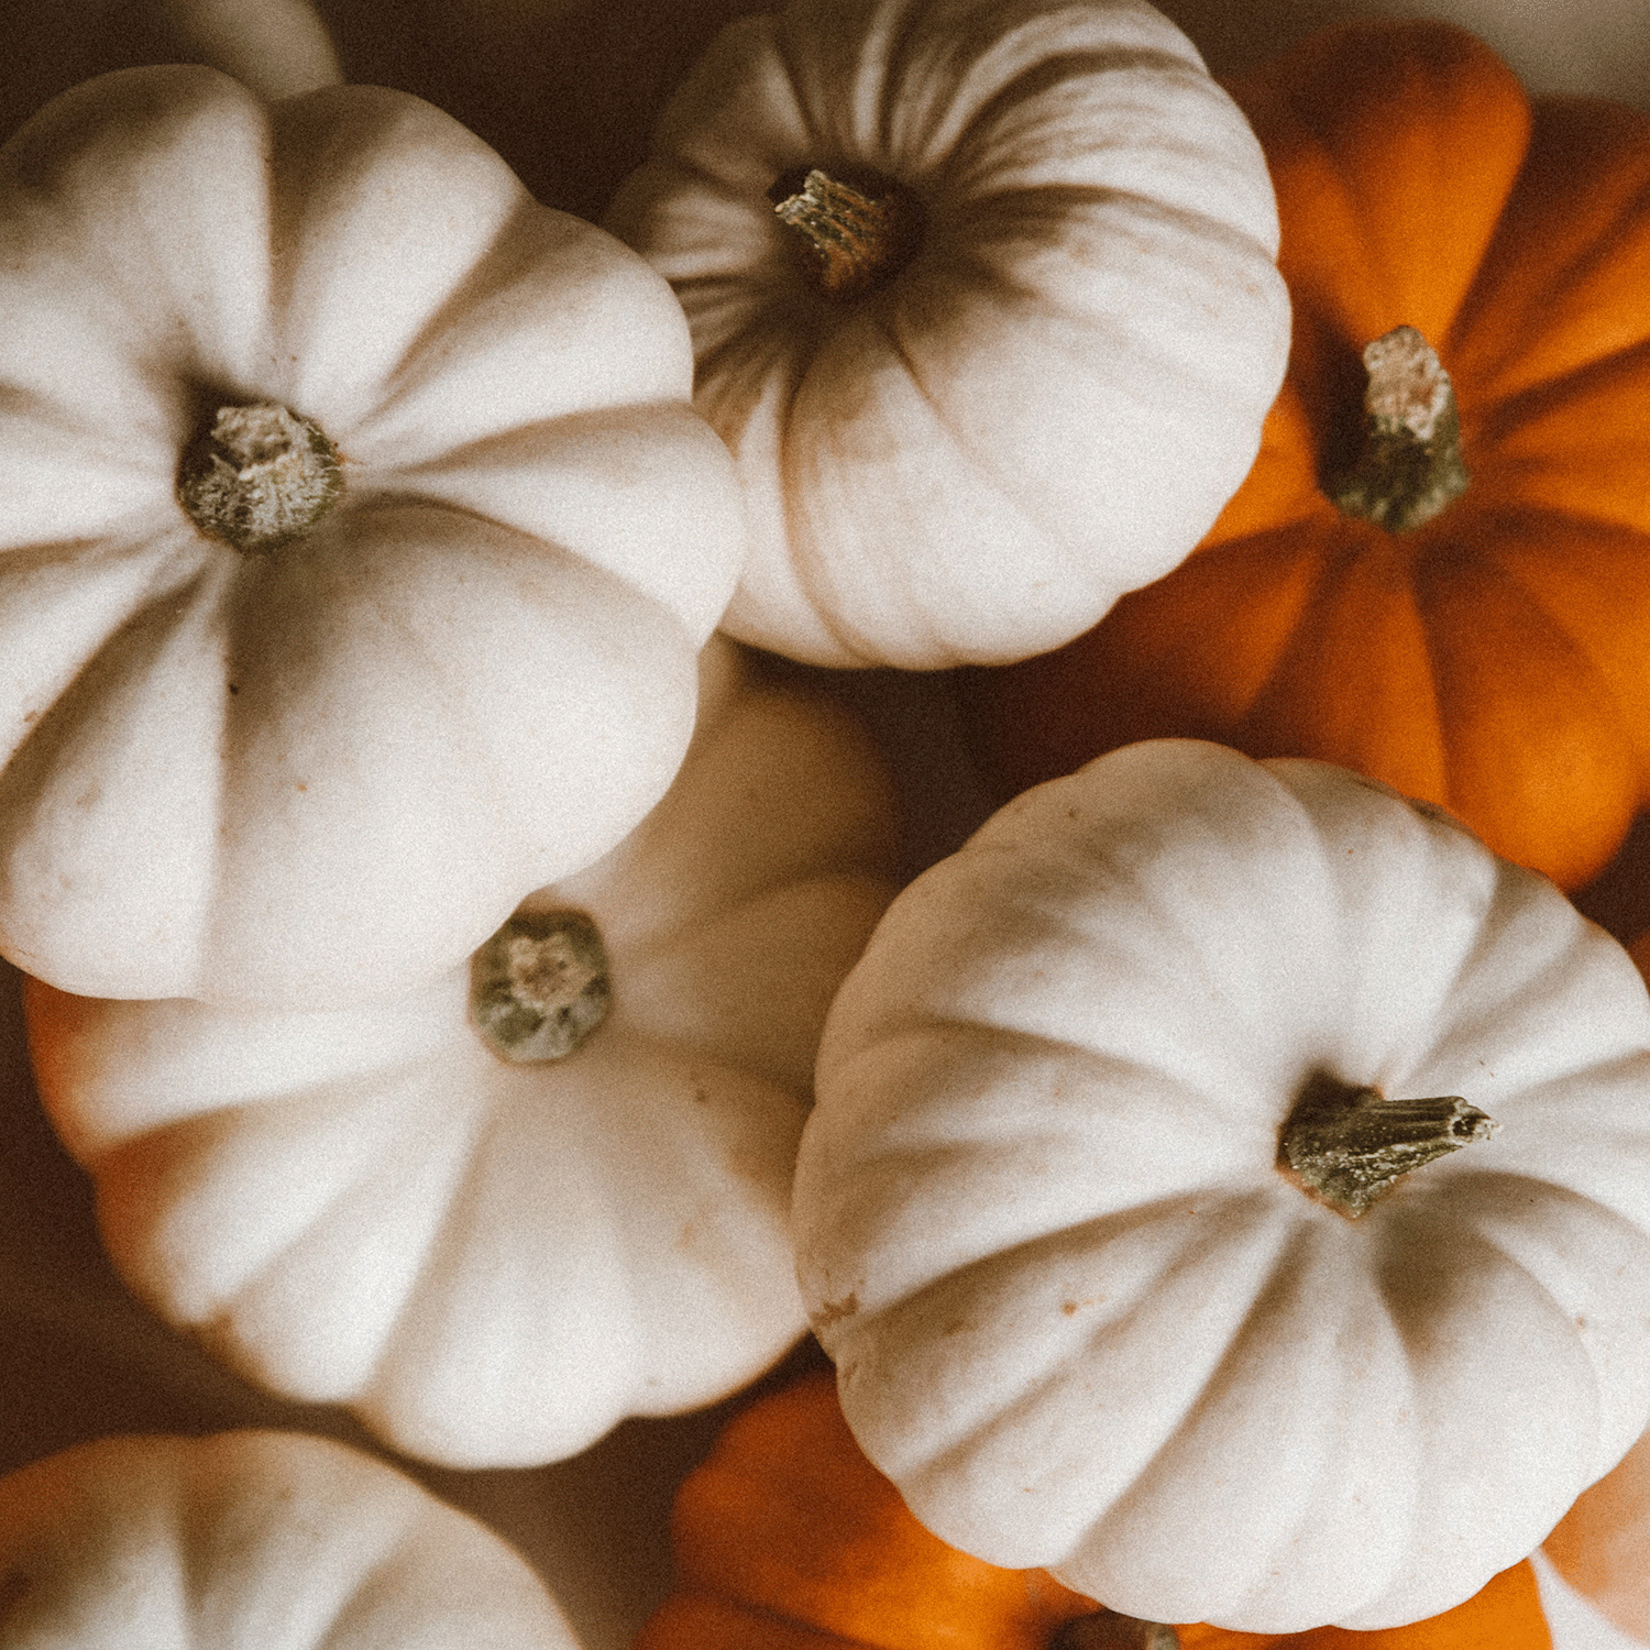
<path id="1" fill-rule="evenodd" d="M 322 427 L 269 401 L 218 408 L 178 465 L 185 515 L 244 551 L 302 538 L 342 493 L 338 452 Z"/>

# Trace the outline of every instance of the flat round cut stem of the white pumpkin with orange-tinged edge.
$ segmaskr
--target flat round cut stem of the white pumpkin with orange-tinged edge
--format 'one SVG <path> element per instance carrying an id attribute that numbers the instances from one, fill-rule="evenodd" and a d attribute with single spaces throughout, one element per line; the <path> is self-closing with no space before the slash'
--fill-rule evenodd
<path id="1" fill-rule="evenodd" d="M 518 911 L 470 959 L 470 1018 L 513 1064 L 566 1059 L 610 1003 L 607 949 L 582 911 Z"/>

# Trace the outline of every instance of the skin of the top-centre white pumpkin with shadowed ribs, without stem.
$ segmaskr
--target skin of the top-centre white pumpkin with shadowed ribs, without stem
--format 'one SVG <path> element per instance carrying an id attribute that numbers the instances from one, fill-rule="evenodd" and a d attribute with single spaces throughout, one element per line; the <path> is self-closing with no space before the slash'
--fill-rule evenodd
<path id="1" fill-rule="evenodd" d="M 776 180 L 893 180 L 823 295 Z M 817 665 L 1005 662 L 1173 568 L 1242 480 L 1289 300 L 1254 135 L 1140 0 L 794 0 L 716 38 L 604 219 L 675 287 L 751 559 L 724 627 Z"/>

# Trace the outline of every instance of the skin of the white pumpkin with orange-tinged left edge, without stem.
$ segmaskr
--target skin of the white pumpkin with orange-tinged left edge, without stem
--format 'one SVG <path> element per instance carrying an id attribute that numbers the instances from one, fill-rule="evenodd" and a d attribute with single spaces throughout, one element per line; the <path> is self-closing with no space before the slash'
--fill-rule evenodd
<path id="1" fill-rule="evenodd" d="M 163 1318 L 454 1467 L 568 1457 L 802 1335 L 795 1143 L 898 822 L 863 729 L 731 652 L 658 808 L 523 908 L 607 950 L 612 1008 L 564 1059 L 493 1053 L 469 969 L 332 1013 L 28 982 L 48 1115 Z"/>

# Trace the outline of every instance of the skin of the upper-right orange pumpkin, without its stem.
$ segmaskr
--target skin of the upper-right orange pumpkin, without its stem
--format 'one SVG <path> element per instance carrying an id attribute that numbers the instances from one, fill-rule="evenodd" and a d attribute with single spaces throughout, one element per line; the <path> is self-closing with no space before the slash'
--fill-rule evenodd
<path id="1" fill-rule="evenodd" d="M 1020 790 L 1163 734 L 1320 757 L 1581 886 L 1650 794 L 1650 116 L 1531 104 L 1424 20 L 1231 89 L 1295 314 L 1259 459 L 1176 571 L 970 676 L 982 766 Z M 1361 356 L 1399 327 L 1454 381 L 1468 472 L 1402 530 L 1330 497 L 1379 446 Z"/>

